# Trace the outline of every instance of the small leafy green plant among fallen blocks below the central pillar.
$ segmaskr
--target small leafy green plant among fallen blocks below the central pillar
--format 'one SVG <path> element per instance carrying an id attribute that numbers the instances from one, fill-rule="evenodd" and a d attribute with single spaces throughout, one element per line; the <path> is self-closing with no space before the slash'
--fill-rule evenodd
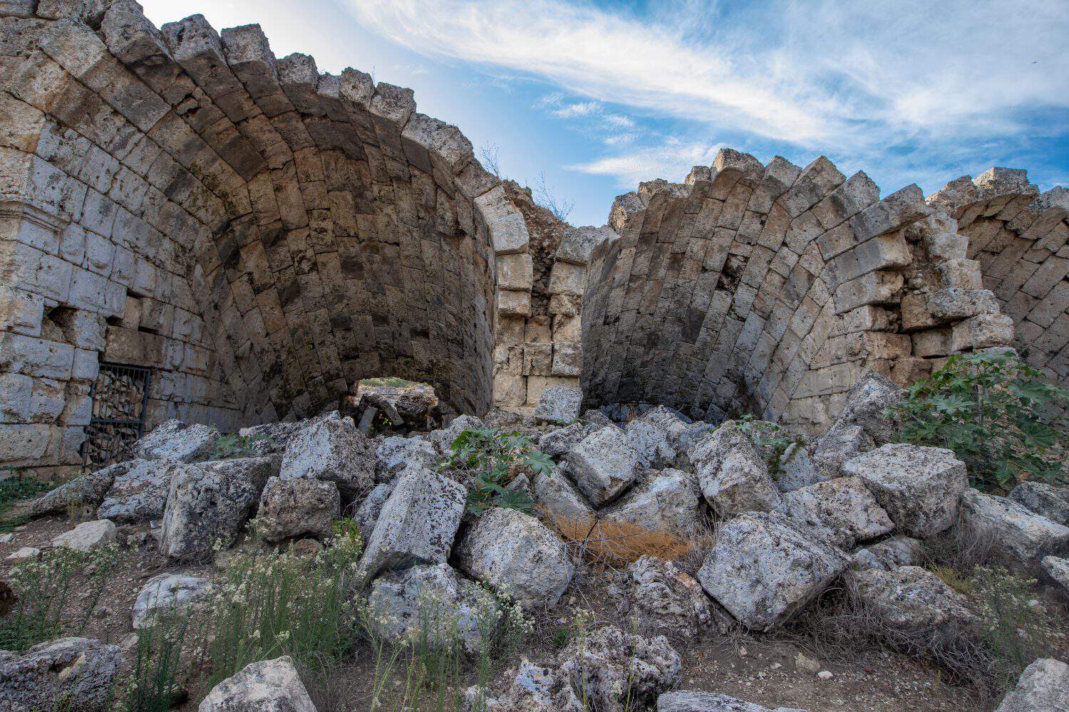
<path id="1" fill-rule="evenodd" d="M 520 432 L 493 428 L 463 430 L 450 445 L 450 456 L 438 470 L 466 470 L 474 476 L 467 507 L 476 516 L 491 507 L 529 512 L 534 503 L 526 492 L 508 487 L 523 465 L 533 473 L 548 473 L 553 460 Z"/>

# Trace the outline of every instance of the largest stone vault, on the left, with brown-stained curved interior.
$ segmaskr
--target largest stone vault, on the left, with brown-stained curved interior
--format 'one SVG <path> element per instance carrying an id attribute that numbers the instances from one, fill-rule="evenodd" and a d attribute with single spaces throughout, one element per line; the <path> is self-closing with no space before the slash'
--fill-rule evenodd
<path id="1" fill-rule="evenodd" d="M 497 181 L 410 90 L 129 0 L 0 5 L 0 463 L 78 461 L 102 361 L 150 425 L 314 414 L 367 376 L 492 397 Z"/>

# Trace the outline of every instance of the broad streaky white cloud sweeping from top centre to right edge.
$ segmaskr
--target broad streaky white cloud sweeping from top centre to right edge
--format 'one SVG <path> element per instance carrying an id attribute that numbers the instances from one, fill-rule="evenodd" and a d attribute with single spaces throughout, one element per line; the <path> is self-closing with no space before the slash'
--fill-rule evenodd
<path id="1" fill-rule="evenodd" d="M 562 0 L 350 4 L 425 54 L 814 148 L 1005 132 L 1022 109 L 1069 107 L 1062 0 L 688 2 L 646 18 Z"/>

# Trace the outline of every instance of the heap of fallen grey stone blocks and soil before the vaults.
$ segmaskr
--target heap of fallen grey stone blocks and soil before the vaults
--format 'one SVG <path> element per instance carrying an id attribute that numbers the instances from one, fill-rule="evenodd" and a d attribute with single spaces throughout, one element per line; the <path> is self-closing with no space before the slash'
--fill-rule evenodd
<path id="1" fill-rule="evenodd" d="M 164 424 L 135 459 L 16 509 L 35 519 L 0 541 L 0 581 L 50 549 L 115 545 L 118 561 L 79 637 L 0 651 L 0 703 L 49 709 L 63 690 L 76 709 L 106 709 L 102 690 L 122 679 L 160 608 L 198 610 L 234 551 L 314 553 L 344 516 L 363 539 L 348 595 L 390 612 L 385 636 L 418 628 L 429 592 L 476 656 L 487 591 L 533 621 L 516 654 L 495 661 L 490 711 L 1066 709 L 1069 667 L 1057 660 L 1036 662 L 1003 700 L 925 645 L 976 639 L 988 624 L 933 553 L 986 541 L 991 560 L 1038 579 L 1028 605 L 1050 621 L 1049 654 L 1067 659 L 1069 491 L 971 489 L 949 450 L 888 442 L 882 413 L 899 397 L 870 377 L 811 440 L 666 408 L 615 423 L 580 414 L 567 389 L 547 390 L 531 418 L 460 416 L 406 438 L 366 436 L 337 412 L 257 426 L 223 460 L 211 459 L 213 428 Z M 477 473 L 436 466 L 461 432 L 485 426 L 522 432 L 553 459 L 509 468 L 532 513 L 474 513 Z M 72 521 L 79 512 L 86 521 Z M 569 522 L 623 527 L 632 549 L 574 536 Z M 673 563 L 642 550 L 651 537 L 682 542 Z M 69 600 L 69 627 L 89 596 Z M 576 621 L 583 635 L 570 632 Z M 181 707 L 370 709 L 373 671 L 359 646 L 327 675 L 281 656 L 212 689 L 189 682 Z"/>

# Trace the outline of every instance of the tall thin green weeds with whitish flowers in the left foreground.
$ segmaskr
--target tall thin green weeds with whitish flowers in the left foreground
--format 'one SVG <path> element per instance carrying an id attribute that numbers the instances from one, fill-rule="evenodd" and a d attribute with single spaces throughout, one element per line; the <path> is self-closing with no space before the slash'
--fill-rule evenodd
<path id="1" fill-rule="evenodd" d="M 249 663 L 290 655 L 315 667 L 337 661 L 356 638 L 353 574 L 360 538 L 341 524 L 315 555 L 237 554 L 213 599 L 207 630 L 211 684 Z"/>

